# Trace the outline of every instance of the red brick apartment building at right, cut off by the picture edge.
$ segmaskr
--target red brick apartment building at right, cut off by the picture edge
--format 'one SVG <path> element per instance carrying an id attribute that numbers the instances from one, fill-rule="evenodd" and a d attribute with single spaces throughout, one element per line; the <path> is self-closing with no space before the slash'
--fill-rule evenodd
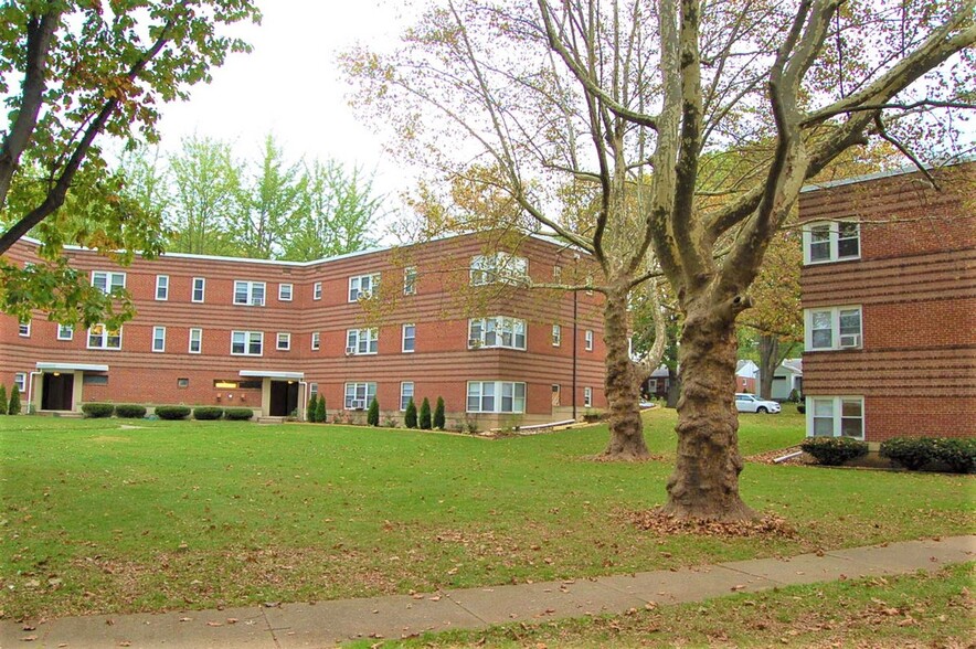
<path id="1" fill-rule="evenodd" d="M 976 435 L 976 163 L 805 189 L 807 435 Z"/>

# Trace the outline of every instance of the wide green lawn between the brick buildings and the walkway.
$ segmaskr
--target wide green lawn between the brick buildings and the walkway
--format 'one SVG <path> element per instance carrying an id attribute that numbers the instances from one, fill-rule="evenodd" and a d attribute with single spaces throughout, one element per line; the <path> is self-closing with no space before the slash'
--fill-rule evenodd
<path id="1" fill-rule="evenodd" d="M 594 462 L 603 426 L 485 440 L 363 427 L 0 417 L 0 614 L 319 600 L 622 574 L 967 533 L 969 477 L 749 464 L 798 539 L 657 536 L 664 461 Z M 744 455 L 803 437 L 743 416 Z M 838 512 L 841 512 L 838 515 Z"/>

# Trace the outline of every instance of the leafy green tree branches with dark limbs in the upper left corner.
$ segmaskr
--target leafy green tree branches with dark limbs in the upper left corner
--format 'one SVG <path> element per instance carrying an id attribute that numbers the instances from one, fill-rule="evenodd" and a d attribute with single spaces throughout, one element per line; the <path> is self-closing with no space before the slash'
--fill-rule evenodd
<path id="1" fill-rule="evenodd" d="M 99 142 L 156 141 L 160 106 L 247 51 L 226 28 L 259 18 L 252 0 L 0 3 L 0 255 L 28 233 L 44 244 L 29 268 L 0 257 L 0 310 L 86 324 L 131 315 L 61 256 L 64 244 L 123 262 L 161 251 L 159 214 L 126 192 Z"/>

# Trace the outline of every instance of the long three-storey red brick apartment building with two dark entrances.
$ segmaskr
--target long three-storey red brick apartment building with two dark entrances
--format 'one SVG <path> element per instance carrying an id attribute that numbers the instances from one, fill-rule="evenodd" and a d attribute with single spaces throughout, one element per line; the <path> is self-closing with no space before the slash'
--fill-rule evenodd
<path id="1" fill-rule="evenodd" d="M 36 411 L 115 402 L 300 417 L 318 394 L 330 419 L 364 421 L 375 396 L 400 425 L 411 396 L 432 407 L 443 396 L 448 426 L 479 429 L 604 407 L 601 297 L 523 281 L 570 280 L 585 260 L 541 237 L 487 246 L 465 235 L 309 263 L 167 254 L 128 267 L 72 248 L 94 285 L 129 291 L 136 317 L 108 331 L 0 316 L 0 383 Z M 9 257 L 34 252 L 24 241 Z"/>

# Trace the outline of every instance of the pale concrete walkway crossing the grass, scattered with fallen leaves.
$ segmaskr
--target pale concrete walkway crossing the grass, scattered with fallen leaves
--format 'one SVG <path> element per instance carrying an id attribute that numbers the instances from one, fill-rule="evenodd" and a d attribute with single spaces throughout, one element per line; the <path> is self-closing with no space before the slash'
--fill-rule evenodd
<path id="1" fill-rule="evenodd" d="M 189 613 L 96 615 L 51 620 L 24 630 L 0 623 L 0 647 L 332 647 L 356 638 L 401 638 L 423 631 L 478 629 L 510 621 L 624 613 L 648 603 L 698 602 L 731 593 L 872 575 L 935 571 L 972 561 L 976 535 L 763 558 L 680 571 L 443 591 L 320 604 L 251 606 Z M 32 638 L 29 640 L 29 638 Z"/>

